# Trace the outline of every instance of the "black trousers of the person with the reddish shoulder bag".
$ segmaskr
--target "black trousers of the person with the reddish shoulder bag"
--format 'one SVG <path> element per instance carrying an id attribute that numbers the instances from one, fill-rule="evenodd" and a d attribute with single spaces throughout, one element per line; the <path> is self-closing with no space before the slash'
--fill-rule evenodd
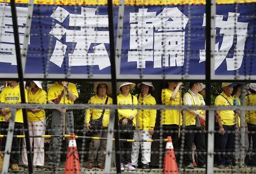
<path id="1" fill-rule="evenodd" d="M 192 144 L 196 145 L 197 165 L 199 167 L 205 164 L 205 137 L 204 131 L 201 128 L 196 128 L 195 125 L 185 126 L 185 164 L 189 165 L 193 162 L 192 159 Z"/>

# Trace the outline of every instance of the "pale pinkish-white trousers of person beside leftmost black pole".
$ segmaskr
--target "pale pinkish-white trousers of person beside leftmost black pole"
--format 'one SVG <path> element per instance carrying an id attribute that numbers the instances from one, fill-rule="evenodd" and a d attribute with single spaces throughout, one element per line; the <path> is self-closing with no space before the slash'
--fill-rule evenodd
<path id="1" fill-rule="evenodd" d="M 44 119 L 44 120 L 35 121 L 35 122 L 28 121 L 28 129 L 30 130 L 30 135 L 44 135 L 46 133 L 46 120 Z M 33 140 L 34 140 L 33 165 L 44 166 L 44 138 L 30 138 L 31 148 L 32 148 Z M 23 141 L 22 141 L 22 162 L 24 165 L 28 165 L 25 138 L 23 138 Z"/>

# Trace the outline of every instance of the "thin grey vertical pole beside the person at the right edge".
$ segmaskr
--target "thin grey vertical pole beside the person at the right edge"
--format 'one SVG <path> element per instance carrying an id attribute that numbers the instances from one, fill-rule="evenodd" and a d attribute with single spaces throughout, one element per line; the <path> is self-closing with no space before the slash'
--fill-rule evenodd
<path id="1" fill-rule="evenodd" d="M 241 105 L 245 106 L 245 84 L 241 85 Z M 245 110 L 241 111 L 240 116 L 240 167 L 245 162 Z"/>

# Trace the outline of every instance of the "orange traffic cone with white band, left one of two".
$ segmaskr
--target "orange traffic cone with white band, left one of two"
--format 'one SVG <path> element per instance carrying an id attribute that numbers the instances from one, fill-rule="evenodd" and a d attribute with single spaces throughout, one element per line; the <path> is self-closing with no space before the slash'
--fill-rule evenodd
<path id="1" fill-rule="evenodd" d="M 65 164 L 65 174 L 81 173 L 80 160 L 76 147 L 75 134 L 71 134 L 68 145 L 68 154 Z"/>

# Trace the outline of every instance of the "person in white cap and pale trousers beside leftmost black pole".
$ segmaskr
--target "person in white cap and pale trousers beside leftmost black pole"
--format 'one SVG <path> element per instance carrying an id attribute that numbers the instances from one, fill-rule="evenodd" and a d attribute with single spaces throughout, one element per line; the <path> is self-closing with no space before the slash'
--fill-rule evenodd
<path id="1" fill-rule="evenodd" d="M 46 104 L 47 93 L 43 90 L 42 81 L 31 81 L 27 90 L 28 103 Z M 44 109 L 27 109 L 27 120 L 30 135 L 44 135 L 46 133 L 46 112 Z M 34 141 L 34 146 L 32 146 Z M 31 147 L 34 147 L 33 165 L 36 168 L 44 167 L 44 138 L 30 138 Z M 22 162 L 28 167 L 26 141 L 23 138 Z"/>

